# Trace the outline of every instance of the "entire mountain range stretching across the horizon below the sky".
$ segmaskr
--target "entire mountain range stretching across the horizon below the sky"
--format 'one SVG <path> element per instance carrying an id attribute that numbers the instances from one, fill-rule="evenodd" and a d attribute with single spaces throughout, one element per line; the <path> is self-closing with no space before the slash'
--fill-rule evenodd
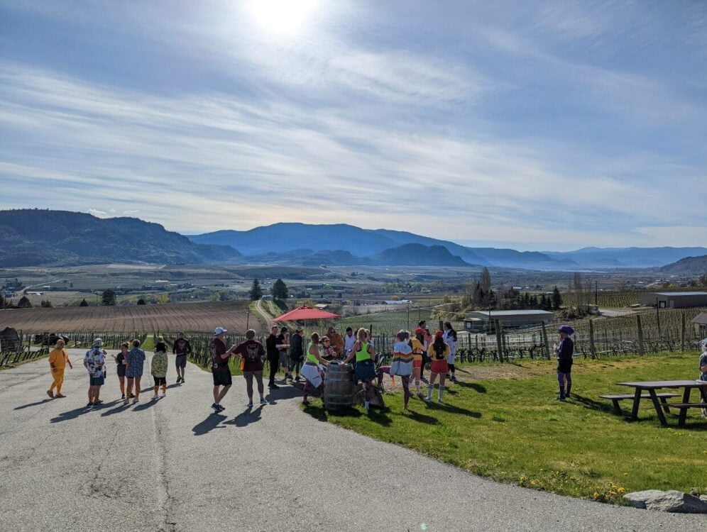
<path id="1" fill-rule="evenodd" d="M 471 248 L 406 231 L 346 224 L 275 223 L 249 231 L 184 236 L 138 218 L 70 211 L 0 211 L 0 267 L 87 262 L 303 266 L 489 266 L 527 270 L 666 267 L 703 273 L 707 248 L 583 248 L 520 252 Z M 681 261 L 683 262 L 683 261 Z M 696 270 L 691 270 L 692 268 Z M 667 270 L 666 270 L 667 271 Z"/>

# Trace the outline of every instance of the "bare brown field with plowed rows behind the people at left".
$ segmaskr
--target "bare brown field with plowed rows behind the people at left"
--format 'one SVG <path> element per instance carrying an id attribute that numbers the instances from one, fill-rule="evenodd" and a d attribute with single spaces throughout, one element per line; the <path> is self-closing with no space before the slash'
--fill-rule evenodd
<path id="1" fill-rule="evenodd" d="M 246 331 L 248 301 L 0 310 L 0 328 L 24 333 Z M 256 325 L 251 316 L 251 326 Z"/>

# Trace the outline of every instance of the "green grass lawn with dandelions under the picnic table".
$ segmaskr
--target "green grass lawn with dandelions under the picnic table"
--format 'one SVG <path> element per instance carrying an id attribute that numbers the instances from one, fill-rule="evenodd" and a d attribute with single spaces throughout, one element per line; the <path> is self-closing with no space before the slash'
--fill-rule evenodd
<path id="1" fill-rule="evenodd" d="M 398 389 L 371 416 L 327 412 L 318 400 L 305 412 L 478 475 L 573 497 L 620 503 L 624 492 L 642 489 L 704 494 L 707 419 L 698 409 L 689 411 L 685 428 L 677 428 L 676 414 L 667 414 L 669 426 L 662 427 L 650 401 L 641 402 L 640 419 L 632 422 L 598 398 L 632 392 L 616 382 L 695 379 L 697 362 L 695 354 L 676 353 L 576 360 L 573 397 L 564 403 L 555 400 L 554 362 L 463 365 L 464 382 L 451 384 L 444 405 L 413 397 L 405 412 Z M 623 401 L 625 413 L 630 406 Z"/>

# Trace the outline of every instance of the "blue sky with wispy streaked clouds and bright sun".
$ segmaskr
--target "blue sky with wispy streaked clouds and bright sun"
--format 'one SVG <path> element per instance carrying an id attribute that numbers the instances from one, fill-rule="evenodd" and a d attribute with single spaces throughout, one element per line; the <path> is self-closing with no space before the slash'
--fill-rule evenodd
<path id="1" fill-rule="evenodd" d="M 707 2 L 0 0 L 0 209 L 707 245 Z"/>

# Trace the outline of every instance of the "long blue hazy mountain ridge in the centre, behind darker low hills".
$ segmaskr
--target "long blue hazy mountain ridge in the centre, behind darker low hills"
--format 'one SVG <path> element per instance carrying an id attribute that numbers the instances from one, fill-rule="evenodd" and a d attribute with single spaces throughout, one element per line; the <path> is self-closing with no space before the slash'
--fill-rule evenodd
<path id="1" fill-rule="evenodd" d="M 343 250 L 355 257 L 368 257 L 405 244 L 441 245 L 452 255 L 475 265 L 522 267 L 558 270 L 576 265 L 570 260 L 554 259 L 538 252 L 519 252 L 495 248 L 466 248 L 463 245 L 388 229 L 362 229 L 344 223 L 312 225 L 307 223 L 275 223 L 249 231 L 216 231 L 191 235 L 194 242 L 225 244 L 244 255 L 286 253 L 299 248 L 314 251 Z M 247 259 L 246 259 L 247 260 Z"/>

